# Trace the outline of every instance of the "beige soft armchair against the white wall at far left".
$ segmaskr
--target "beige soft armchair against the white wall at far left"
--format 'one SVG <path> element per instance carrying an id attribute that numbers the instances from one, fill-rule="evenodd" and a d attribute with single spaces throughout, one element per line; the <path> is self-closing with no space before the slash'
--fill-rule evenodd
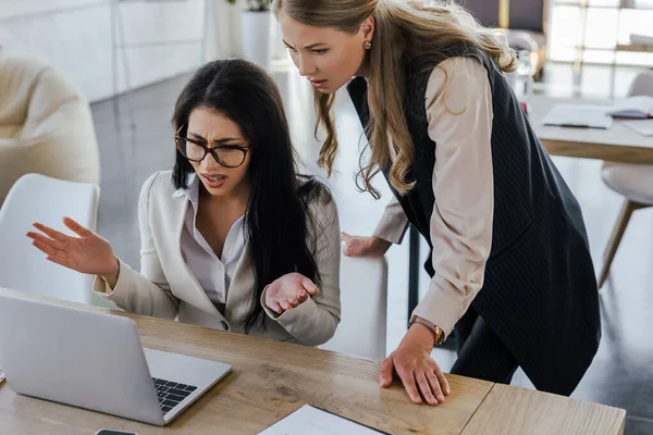
<path id="1" fill-rule="evenodd" d="M 0 48 L 0 204 L 27 173 L 99 184 L 93 117 L 61 72 Z"/>

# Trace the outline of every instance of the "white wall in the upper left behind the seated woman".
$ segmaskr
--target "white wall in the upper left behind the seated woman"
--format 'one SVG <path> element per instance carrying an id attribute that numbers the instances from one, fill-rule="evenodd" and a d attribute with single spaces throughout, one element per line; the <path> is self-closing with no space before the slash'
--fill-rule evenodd
<path id="1" fill-rule="evenodd" d="M 224 0 L 0 0 L 0 45 L 97 101 L 239 54 L 237 14 Z"/>

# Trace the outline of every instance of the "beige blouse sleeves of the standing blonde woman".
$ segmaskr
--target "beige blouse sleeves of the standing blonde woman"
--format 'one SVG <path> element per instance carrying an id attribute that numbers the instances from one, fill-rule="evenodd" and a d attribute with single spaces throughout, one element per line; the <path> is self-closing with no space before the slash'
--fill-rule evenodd
<path id="1" fill-rule="evenodd" d="M 426 95 L 435 147 L 431 215 L 433 269 L 428 294 L 414 311 L 448 335 L 483 286 L 492 246 L 492 92 L 476 59 L 452 58 L 433 70 Z M 396 199 L 374 235 L 401 243 L 408 221 Z"/>

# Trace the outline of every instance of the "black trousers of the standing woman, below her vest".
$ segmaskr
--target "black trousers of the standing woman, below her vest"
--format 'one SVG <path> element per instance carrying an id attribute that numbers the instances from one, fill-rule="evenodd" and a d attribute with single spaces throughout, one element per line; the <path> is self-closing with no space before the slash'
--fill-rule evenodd
<path id="1" fill-rule="evenodd" d="M 509 384 L 519 366 L 500 337 L 471 307 L 454 327 L 458 359 L 451 370 L 498 384 Z"/>

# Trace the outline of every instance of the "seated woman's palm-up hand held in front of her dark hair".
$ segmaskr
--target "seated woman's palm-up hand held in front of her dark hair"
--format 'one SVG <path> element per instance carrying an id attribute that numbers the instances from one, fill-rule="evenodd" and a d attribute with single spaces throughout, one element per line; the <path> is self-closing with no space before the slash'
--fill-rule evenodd
<path id="1" fill-rule="evenodd" d="M 278 314 L 291 310 L 316 296 L 320 290 L 312 281 L 293 272 L 275 279 L 266 293 L 266 306 Z"/>

